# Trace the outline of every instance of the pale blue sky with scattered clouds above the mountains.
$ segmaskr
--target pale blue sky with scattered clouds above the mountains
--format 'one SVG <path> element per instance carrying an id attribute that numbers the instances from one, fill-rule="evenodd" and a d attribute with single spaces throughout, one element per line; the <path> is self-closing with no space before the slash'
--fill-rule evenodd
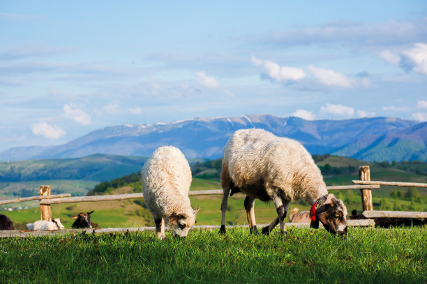
<path id="1" fill-rule="evenodd" d="M 0 151 L 246 113 L 426 121 L 427 1 L 347 2 L 1 1 Z"/>

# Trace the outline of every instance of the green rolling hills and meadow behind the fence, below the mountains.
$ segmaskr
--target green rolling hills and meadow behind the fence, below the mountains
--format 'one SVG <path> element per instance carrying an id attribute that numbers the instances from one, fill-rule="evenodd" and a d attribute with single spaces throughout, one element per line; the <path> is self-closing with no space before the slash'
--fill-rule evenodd
<path id="1" fill-rule="evenodd" d="M 322 170 L 327 185 L 348 185 L 352 180 L 358 180 L 357 167 L 364 164 L 363 161 L 347 157 L 330 155 L 314 155 L 317 165 Z M 377 162 L 370 164 L 371 180 L 394 180 L 401 182 L 426 182 L 427 163 L 411 161 L 400 163 Z M 219 173 L 221 160 L 196 162 L 191 166 L 193 182 L 190 190 L 220 189 Z M 38 192 L 40 184 L 50 184 L 53 190 L 60 187 L 73 195 L 83 192 L 89 194 L 127 194 L 142 191 L 142 184 L 138 174 L 125 175 L 121 178 L 109 180 L 108 182 L 91 182 L 85 180 L 48 180 L 40 182 L 8 183 L 0 184 L 0 194 L 19 191 L 26 188 Z M 6 186 L 7 185 L 7 186 Z M 413 191 L 413 192 L 412 192 Z M 59 192 L 58 192 L 59 193 Z M 359 190 L 331 191 L 337 198 L 344 201 L 349 214 L 352 210 L 361 212 L 361 197 Z M 409 194 L 408 193 L 412 193 Z M 38 193 L 36 193 L 37 195 Z M 15 197 L 16 198 L 16 197 Z M 222 196 L 191 196 L 193 208 L 201 206 L 197 214 L 197 225 L 219 225 L 220 203 Z M 244 199 L 235 195 L 230 198 L 227 210 L 227 225 L 246 224 L 246 212 L 244 210 Z M 5 212 L 15 223 L 15 227 L 25 230 L 26 223 L 40 219 L 40 210 L 37 201 L 30 203 L 15 203 L 3 205 L 2 207 L 17 207 L 33 205 L 27 210 Z M 299 210 L 309 210 L 304 200 L 291 203 L 290 210 L 298 207 Z M 374 210 L 402 210 L 402 211 L 427 211 L 427 189 L 419 188 L 397 188 L 381 187 L 373 189 Z M 1 209 L 1 207 L 0 207 Z M 91 215 L 92 221 L 99 223 L 101 228 L 128 228 L 153 226 L 153 220 L 144 200 L 133 199 L 123 201 L 107 201 L 97 203 L 68 203 L 52 205 L 52 216 L 61 218 L 66 228 L 71 228 L 73 219 L 71 217 L 79 212 L 95 210 Z M 289 213 L 286 221 L 288 220 Z M 276 217 L 276 210 L 272 203 L 255 201 L 255 216 L 257 223 L 270 223 Z"/>

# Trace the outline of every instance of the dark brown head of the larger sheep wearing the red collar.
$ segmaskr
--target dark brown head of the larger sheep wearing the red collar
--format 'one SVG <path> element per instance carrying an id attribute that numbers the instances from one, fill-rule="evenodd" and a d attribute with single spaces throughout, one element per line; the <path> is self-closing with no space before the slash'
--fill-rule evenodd
<path id="1" fill-rule="evenodd" d="M 310 211 L 311 228 L 319 228 L 320 221 L 331 234 L 347 235 L 347 208 L 343 201 L 335 198 L 334 194 L 328 194 L 319 198 L 315 205 Z"/>

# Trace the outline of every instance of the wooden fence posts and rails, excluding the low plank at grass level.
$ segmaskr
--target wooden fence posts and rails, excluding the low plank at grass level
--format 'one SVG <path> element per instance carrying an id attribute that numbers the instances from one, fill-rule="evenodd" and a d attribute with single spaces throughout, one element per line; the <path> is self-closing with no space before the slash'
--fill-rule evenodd
<path id="1" fill-rule="evenodd" d="M 331 186 L 327 187 L 328 191 L 334 190 L 350 190 L 360 189 L 362 210 L 366 218 L 381 218 L 381 217 L 396 217 L 396 218 L 427 218 L 427 212 L 391 212 L 391 211 L 373 211 L 372 189 L 379 189 L 381 185 L 391 185 L 398 187 L 427 187 L 424 183 L 414 182 L 382 182 L 370 180 L 369 166 L 359 167 L 359 180 L 352 180 L 354 185 L 344 186 Z M 190 196 L 203 196 L 203 195 L 222 195 L 222 189 L 215 190 L 202 190 L 190 191 Z M 107 196 L 78 196 L 70 197 L 70 194 L 56 194 L 50 195 L 50 186 L 40 186 L 40 196 L 32 196 L 27 198 L 17 198 L 13 200 L 2 200 L 0 205 L 8 203 L 18 203 L 28 200 L 40 200 L 40 219 L 51 220 L 52 214 L 50 205 L 61 203 L 80 203 L 80 202 L 97 202 L 97 201 L 110 201 L 110 200 L 125 200 L 132 198 L 144 198 L 142 193 L 139 194 L 117 194 Z"/>

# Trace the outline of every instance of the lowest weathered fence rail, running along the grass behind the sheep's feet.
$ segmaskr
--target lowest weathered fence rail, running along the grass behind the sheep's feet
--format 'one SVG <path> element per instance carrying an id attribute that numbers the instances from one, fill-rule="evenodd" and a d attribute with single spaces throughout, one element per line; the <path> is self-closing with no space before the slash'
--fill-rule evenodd
<path id="1" fill-rule="evenodd" d="M 269 224 L 257 224 L 258 228 L 268 226 Z M 348 220 L 347 225 L 349 227 L 366 227 L 375 226 L 373 220 Z M 309 228 L 310 223 L 286 223 L 287 228 Z M 225 226 L 225 228 L 248 228 L 248 225 L 237 225 L 237 226 Z M 322 224 L 320 224 L 322 228 Z M 167 230 L 169 228 L 166 227 Z M 194 226 L 192 230 L 219 230 L 220 226 Z M 41 236 L 52 236 L 52 235 L 73 235 L 81 234 L 82 232 L 94 233 L 94 234 L 105 234 L 114 232 L 142 232 L 145 230 L 156 230 L 156 227 L 141 227 L 141 228 L 105 228 L 105 229 L 68 229 L 68 230 L 54 230 L 54 231 L 22 231 L 22 230 L 0 230 L 0 237 L 41 237 Z"/>

